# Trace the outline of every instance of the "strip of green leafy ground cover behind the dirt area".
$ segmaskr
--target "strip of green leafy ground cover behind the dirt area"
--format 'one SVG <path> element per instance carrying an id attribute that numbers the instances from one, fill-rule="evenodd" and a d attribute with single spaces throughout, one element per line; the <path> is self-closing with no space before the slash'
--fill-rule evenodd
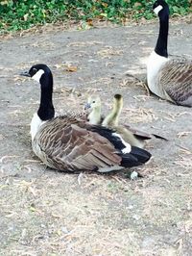
<path id="1" fill-rule="evenodd" d="M 0 0 L 1 32 L 29 29 L 39 24 L 93 18 L 123 23 L 126 18 L 154 17 L 154 1 L 135 0 Z M 190 13 L 191 0 L 167 0 L 171 13 Z"/>

